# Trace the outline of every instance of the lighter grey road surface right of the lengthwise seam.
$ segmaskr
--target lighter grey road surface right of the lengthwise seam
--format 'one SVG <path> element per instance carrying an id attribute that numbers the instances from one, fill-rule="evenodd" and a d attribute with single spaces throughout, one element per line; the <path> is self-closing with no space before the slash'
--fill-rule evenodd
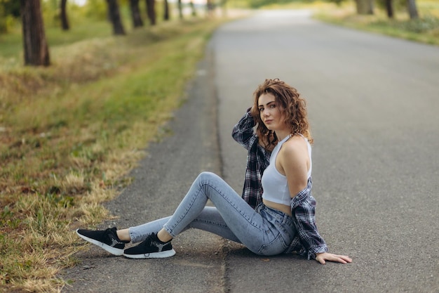
<path id="1" fill-rule="evenodd" d="M 315 138 L 318 228 L 330 250 L 353 263 L 231 251 L 229 289 L 439 292 L 439 48 L 308 16 L 269 11 L 215 34 L 224 177 L 240 188 L 245 154 L 229 129 L 251 105 L 255 85 L 279 77 L 296 86 Z"/>

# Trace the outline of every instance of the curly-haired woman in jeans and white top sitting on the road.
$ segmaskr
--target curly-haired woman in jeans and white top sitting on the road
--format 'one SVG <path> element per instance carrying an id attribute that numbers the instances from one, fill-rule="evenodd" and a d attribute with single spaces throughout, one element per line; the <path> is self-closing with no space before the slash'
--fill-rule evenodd
<path id="1" fill-rule="evenodd" d="M 254 93 L 251 116 L 264 148 L 271 150 L 262 175 L 262 203 L 252 209 L 210 172 L 201 173 L 173 216 L 142 226 L 116 230 L 76 230 L 83 239 L 133 259 L 173 256 L 171 240 L 188 228 L 199 228 L 242 243 L 255 254 L 307 254 L 320 263 L 350 263 L 331 254 L 315 223 L 311 196 L 311 143 L 306 103 L 296 89 L 279 79 L 266 79 Z M 262 138 L 262 139 L 260 139 Z M 210 200 L 215 207 L 205 207 Z M 161 227 L 160 230 L 157 227 Z M 154 229 L 144 239 L 145 231 Z M 125 243 L 140 242 L 123 250 Z"/>

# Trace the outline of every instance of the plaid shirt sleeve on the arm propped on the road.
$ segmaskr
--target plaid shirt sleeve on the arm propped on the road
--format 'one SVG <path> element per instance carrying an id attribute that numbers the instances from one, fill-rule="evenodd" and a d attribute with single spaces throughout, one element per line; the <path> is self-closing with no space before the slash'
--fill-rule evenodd
<path id="1" fill-rule="evenodd" d="M 308 252 L 308 259 L 316 259 L 316 254 L 327 252 L 327 246 L 316 226 L 316 200 L 311 195 L 311 178 L 304 190 L 291 200 L 293 221 L 303 247 Z"/>

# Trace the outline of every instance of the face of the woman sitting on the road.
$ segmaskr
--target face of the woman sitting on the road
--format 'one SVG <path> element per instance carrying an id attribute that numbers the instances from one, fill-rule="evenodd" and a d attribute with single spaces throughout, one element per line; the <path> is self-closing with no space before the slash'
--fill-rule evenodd
<path id="1" fill-rule="evenodd" d="M 285 113 L 281 112 L 272 93 L 262 93 L 259 96 L 257 106 L 261 120 L 267 129 L 281 131 L 287 128 L 284 119 Z"/>

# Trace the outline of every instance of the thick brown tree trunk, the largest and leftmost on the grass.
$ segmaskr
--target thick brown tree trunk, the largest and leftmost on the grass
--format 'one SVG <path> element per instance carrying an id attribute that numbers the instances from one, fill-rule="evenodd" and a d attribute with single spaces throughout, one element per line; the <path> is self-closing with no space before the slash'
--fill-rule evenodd
<path id="1" fill-rule="evenodd" d="M 40 0 L 20 0 L 25 65 L 50 65 Z"/>

